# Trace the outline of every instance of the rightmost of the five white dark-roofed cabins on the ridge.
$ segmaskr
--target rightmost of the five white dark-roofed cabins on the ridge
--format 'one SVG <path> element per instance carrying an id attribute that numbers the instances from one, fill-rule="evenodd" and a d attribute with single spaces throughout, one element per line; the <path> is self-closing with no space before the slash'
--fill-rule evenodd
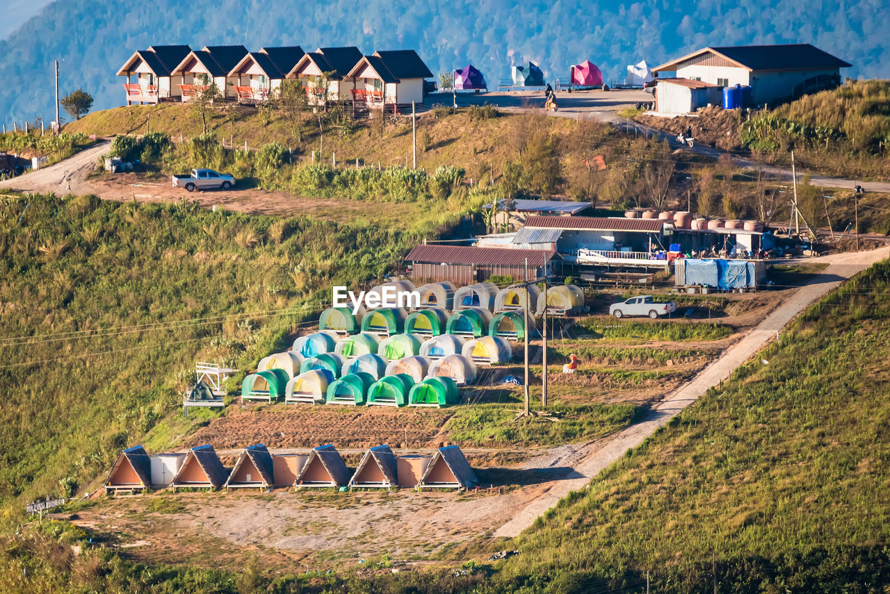
<path id="1" fill-rule="evenodd" d="M 347 76 L 356 103 L 397 107 L 423 103 L 424 79 L 433 73 L 414 50 L 395 50 L 362 56 Z"/>

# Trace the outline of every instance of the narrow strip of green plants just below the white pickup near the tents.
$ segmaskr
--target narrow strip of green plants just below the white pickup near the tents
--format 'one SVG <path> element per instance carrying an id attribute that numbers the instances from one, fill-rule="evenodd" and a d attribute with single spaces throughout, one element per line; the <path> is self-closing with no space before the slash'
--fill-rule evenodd
<path id="1" fill-rule="evenodd" d="M 578 333 L 607 341 L 719 341 L 732 336 L 731 325 L 673 322 L 603 321 L 587 317 L 578 321 Z"/>

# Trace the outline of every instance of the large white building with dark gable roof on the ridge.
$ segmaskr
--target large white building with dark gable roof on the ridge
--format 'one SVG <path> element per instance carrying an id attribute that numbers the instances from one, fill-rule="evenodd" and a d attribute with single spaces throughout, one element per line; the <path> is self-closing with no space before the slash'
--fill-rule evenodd
<path id="1" fill-rule="evenodd" d="M 750 101 L 763 105 L 833 88 L 840 84 L 840 68 L 850 67 L 810 44 L 740 45 L 705 47 L 652 72 L 720 87 L 750 86 Z"/>

